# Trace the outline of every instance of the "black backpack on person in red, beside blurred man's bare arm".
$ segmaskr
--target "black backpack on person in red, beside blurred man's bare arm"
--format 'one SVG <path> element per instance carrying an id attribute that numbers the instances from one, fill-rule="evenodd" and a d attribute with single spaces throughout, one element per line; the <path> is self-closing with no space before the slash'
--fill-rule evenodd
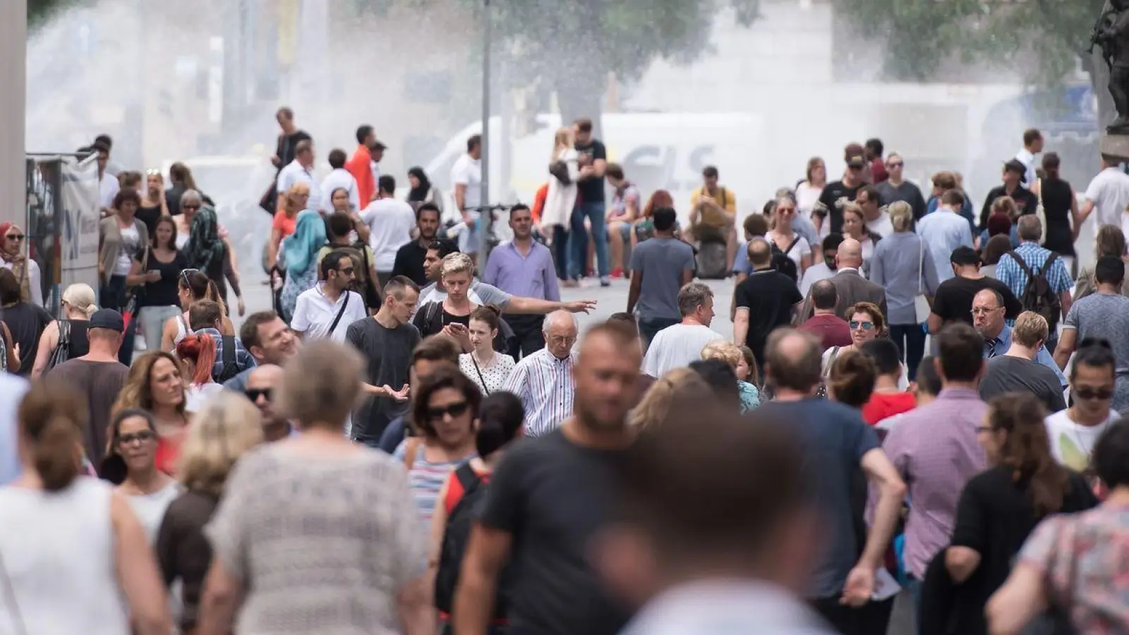
<path id="1" fill-rule="evenodd" d="M 443 532 L 443 546 L 439 551 L 439 571 L 435 575 L 435 607 L 448 615 L 455 603 L 455 589 L 458 586 L 463 555 L 466 553 L 466 545 L 471 539 L 471 527 L 478 520 L 489 492 L 487 484 L 479 478 L 470 463 L 460 466 L 455 470 L 455 478 L 463 486 L 463 497 L 447 515 L 447 528 Z M 440 501 L 439 504 L 441 505 L 443 502 Z M 513 568 L 507 565 L 498 580 L 495 619 L 506 617 L 513 588 Z"/>

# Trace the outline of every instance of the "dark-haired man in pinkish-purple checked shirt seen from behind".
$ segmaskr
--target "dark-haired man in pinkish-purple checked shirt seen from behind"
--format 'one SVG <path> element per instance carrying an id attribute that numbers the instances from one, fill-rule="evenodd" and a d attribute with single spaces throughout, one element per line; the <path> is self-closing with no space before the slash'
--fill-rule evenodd
<path id="1" fill-rule="evenodd" d="M 883 444 L 909 484 L 905 569 L 914 599 L 929 562 L 948 546 L 964 484 L 987 466 L 977 442 L 988 410 L 977 392 L 984 371 L 983 339 L 964 323 L 945 327 L 937 339 L 940 394 L 902 415 Z"/>

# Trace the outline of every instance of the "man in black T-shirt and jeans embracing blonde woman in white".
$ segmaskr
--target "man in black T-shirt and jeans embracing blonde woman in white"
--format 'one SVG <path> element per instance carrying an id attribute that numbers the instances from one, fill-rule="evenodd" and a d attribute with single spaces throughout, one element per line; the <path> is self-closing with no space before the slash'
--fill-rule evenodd
<path id="1" fill-rule="evenodd" d="M 592 136 L 592 120 L 578 119 L 572 124 L 576 134 L 576 151 L 579 155 L 580 177 L 577 185 L 580 200 L 572 211 L 572 271 L 574 277 L 583 277 L 588 261 L 588 230 L 584 227 L 587 218 L 592 225 L 592 240 L 596 244 L 596 268 L 599 286 L 611 286 L 607 268 L 607 227 L 604 218 L 604 169 L 607 167 L 607 149 L 603 141 Z"/>

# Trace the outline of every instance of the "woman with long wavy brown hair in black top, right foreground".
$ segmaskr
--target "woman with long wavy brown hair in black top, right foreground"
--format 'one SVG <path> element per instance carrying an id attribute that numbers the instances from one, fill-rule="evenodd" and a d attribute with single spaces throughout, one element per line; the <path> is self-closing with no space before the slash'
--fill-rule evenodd
<path id="1" fill-rule="evenodd" d="M 956 633 L 988 632 L 984 604 L 1007 580 L 1016 554 L 1040 521 L 1097 505 L 1082 475 L 1051 456 L 1045 414 L 1031 394 L 1004 394 L 988 402 L 983 425 L 977 428 L 989 467 L 964 486 L 952 542 L 938 556 L 960 590 Z"/>

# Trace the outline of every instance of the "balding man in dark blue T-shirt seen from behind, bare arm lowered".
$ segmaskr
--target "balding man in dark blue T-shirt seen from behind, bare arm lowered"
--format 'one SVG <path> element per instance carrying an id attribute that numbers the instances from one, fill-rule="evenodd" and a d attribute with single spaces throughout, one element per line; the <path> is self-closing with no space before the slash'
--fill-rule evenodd
<path id="1" fill-rule="evenodd" d="M 811 399 L 822 376 L 821 350 L 814 336 L 794 329 L 777 329 L 769 336 L 764 374 L 776 399 L 761 406 L 758 415 L 787 424 L 798 436 L 804 462 L 811 466 L 807 476 L 814 508 L 826 523 L 826 542 L 808 580 L 807 600 L 840 633 L 868 633 L 854 625 L 869 612 L 859 609 L 874 593 L 875 572 L 884 564 L 905 484 L 858 410 L 830 399 Z M 859 468 L 870 490 L 877 492 L 869 531 L 859 531 L 855 522 L 861 516 L 861 505 L 852 503 L 852 480 Z"/>

